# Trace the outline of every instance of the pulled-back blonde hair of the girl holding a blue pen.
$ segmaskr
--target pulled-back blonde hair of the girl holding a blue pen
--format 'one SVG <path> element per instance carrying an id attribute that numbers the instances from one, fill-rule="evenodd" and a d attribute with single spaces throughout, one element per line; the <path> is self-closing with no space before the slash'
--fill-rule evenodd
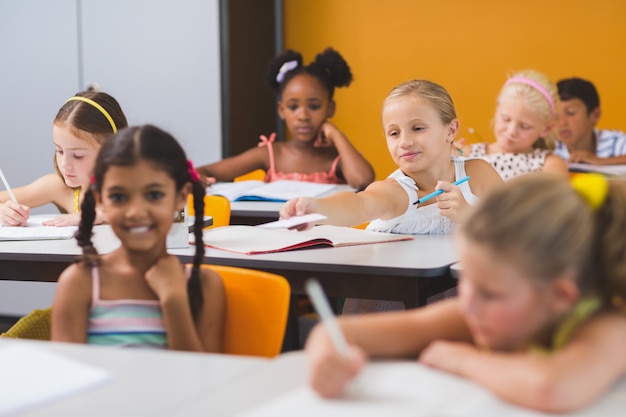
<path id="1" fill-rule="evenodd" d="M 391 101 L 406 96 L 428 101 L 439 113 L 439 118 L 444 124 L 456 119 L 456 110 L 448 91 L 439 84 L 427 80 L 406 81 L 395 86 L 383 101 L 383 109 Z"/>

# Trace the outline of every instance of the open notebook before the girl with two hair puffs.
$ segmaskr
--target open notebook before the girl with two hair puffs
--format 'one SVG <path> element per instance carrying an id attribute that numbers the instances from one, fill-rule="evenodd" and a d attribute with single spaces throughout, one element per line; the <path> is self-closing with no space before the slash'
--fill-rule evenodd
<path id="1" fill-rule="evenodd" d="M 317 197 L 335 188 L 335 184 L 318 184 L 304 181 L 258 180 L 218 182 L 207 188 L 207 194 L 221 195 L 230 201 L 283 202 L 297 197 Z"/>

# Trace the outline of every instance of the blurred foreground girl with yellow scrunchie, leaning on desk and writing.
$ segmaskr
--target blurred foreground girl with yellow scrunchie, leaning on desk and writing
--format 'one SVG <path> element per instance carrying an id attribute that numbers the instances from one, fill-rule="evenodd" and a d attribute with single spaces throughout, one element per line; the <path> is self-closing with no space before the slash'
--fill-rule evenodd
<path id="1" fill-rule="evenodd" d="M 481 199 L 457 236 L 458 298 L 340 318 L 307 341 L 311 384 L 341 395 L 367 355 L 418 356 L 512 403 L 548 412 L 591 403 L 626 374 L 626 181 L 522 175 Z"/>

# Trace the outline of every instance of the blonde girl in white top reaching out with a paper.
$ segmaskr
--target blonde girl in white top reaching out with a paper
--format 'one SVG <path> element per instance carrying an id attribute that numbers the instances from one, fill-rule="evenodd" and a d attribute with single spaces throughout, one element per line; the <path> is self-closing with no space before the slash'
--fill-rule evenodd
<path id="1" fill-rule="evenodd" d="M 300 197 L 285 203 L 281 218 L 321 213 L 320 223 L 401 234 L 449 234 L 462 215 L 502 179 L 485 161 L 451 155 L 459 120 L 445 88 L 427 80 L 394 87 L 383 102 L 383 131 L 398 169 L 359 193 Z M 469 176 L 469 181 L 454 183 Z M 419 201 L 435 191 L 436 198 Z M 298 227 L 306 229 L 310 224 Z M 400 301 L 349 298 L 344 313 L 404 309 Z"/>

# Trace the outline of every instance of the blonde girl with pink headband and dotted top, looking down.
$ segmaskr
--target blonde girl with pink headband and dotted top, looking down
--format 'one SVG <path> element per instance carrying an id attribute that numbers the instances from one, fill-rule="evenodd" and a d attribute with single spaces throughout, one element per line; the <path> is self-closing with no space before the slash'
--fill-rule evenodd
<path id="1" fill-rule="evenodd" d="M 568 176 L 567 164 L 552 152 L 556 100 L 556 87 L 544 74 L 534 70 L 513 74 L 498 95 L 496 141 L 465 146 L 462 155 L 486 160 L 505 181 L 530 172 Z"/>

